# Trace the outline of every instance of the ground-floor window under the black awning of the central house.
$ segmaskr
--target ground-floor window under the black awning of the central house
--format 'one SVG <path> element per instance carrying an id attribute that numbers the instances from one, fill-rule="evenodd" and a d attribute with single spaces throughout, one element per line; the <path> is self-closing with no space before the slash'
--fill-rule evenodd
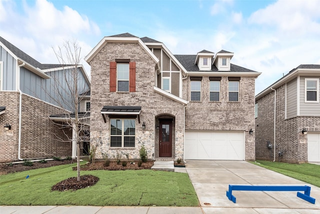
<path id="1" fill-rule="evenodd" d="M 110 119 L 110 147 L 135 146 L 135 120 Z"/>

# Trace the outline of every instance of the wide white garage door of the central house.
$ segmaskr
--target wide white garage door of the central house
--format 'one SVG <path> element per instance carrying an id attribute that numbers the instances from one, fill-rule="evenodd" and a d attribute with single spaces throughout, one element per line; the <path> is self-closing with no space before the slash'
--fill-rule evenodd
<path id="1" fill-rule="evenodd" d="M 185 159 L 244 160 L 244 132 L 186 131 Z"/>

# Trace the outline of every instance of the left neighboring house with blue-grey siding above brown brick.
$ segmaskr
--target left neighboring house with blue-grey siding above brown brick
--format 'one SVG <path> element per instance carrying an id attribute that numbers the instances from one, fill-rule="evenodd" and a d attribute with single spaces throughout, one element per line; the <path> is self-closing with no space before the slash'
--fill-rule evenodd
<path id="1" fill-rule="evenodd" d="M 41 64 L 0 37 L 0 162 L 75 156 L 74 143 L 58 140 L 72 138 L 72 130 L 51 121 L 54 115 L 65 114 L 62 102 L 56 102 L 62 100 L 54 85 L 66 87 L 63 74 L 70 69 L 70 65 Z M 79 83 L 88 90 L 90 82 L 82 66 L 78 71 Z M 53 78 L 57 75 L 58 83 Z M 71 111 L 70 95 L 64 91 L 63 96 L 63 108 Z"/>

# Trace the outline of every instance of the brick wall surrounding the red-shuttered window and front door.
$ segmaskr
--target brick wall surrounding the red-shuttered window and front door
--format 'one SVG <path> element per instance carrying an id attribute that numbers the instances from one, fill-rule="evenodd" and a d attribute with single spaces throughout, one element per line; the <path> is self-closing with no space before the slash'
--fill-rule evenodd
<path id="1" fill-rule="evenodd" d="M 130 59 L 136 62 L 136 91 L 130 93 L 109 92 L 109 63 L 115 59 Z M 107 43 L 90 62 L 91 66 L 91 101 L 90 101 L 90 138 L 97 143 L 95 158 L 102 158 L 102 153 L 112 158 L 113 154 L 125 153 L 129 158 L 139 158 L 142 144 L 147 150 L 148 159 L 154 159 L 158 154 L 155 145 L 158 131 L 156 120 L 160 115 L 174 117 L 175 137 L 172 139 L 172 157 L 183 157 L 183 105 L 153 90 L 155 62 L 137 43 Z M 141 106 L 140 123 L 135 120 L 135 147 L 109 147 L 109 119 L 104 123 L 101 109 L 104 105 Z M 142 123 L 145 129 L 142 130 Z"/>

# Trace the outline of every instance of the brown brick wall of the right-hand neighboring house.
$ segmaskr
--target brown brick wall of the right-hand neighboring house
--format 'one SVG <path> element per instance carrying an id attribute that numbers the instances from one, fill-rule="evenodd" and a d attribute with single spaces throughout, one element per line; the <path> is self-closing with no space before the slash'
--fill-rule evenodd
<path id="1" fill-rule="evenodd" d="M 276 125 L 275 125 L 275 161 L 279 160 L 279 151 L 283 151 L 280 161 L 290 163 L 307 162 L 307 135 L 301 133 L 303 128 L 307 131 L 320 131 L 320 117 L 297 116 L 285 119 L 285 87 L 276 89 Z M 256 124 L 256 159 L 273 160 L 273 106 L 274 92 L 259 100 L 258 117 Z M 266 143 L 272 144 L 270 149 Z"/>

